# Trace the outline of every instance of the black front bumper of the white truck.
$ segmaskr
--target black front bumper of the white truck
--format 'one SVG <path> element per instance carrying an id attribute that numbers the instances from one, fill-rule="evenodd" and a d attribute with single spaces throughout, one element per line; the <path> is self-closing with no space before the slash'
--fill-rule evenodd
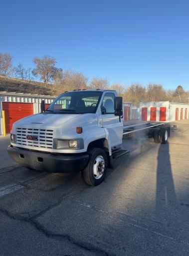
<path id="1" fill-rule="evenodd" d="M 25 167 L 45 172 L 77 172 L 83 170 L 89 160 L 85 154 L 51 154 L 27 149 L 20 149 L 9 145 L 7 152 L 11 158 Z"/>

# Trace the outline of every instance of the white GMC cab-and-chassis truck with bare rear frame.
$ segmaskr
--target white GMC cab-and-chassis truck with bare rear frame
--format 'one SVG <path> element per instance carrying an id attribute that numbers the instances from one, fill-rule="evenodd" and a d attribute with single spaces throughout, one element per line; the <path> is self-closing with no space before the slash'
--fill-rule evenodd
<path id="1" fill-rule="evenodd" d="M 167 143 L 170 126 L 138 124 L 124 127 L 122 97 L 113 90 L 74 90 L 60 94 L 41 113 L 12 126 L 7 148 L 14 161 L 46 172 L 81 171 L 85 183 L 99 185 L 121 149 L 123 135 L 144 130 L 155 142 Z M 141 126 L 142 125 L 142 126 Z"/>

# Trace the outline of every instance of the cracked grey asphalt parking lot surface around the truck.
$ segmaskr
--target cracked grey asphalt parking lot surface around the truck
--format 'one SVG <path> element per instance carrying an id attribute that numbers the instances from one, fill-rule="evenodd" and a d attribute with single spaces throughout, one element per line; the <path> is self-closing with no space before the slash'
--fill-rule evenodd
<path id="1" fill-rule="evenodd" d="M 189 255 L 189 120 L 176 123 L 168 144 L 125 139 L 97 187 L 13 164 L 1 137 L 0 255 Z"/>

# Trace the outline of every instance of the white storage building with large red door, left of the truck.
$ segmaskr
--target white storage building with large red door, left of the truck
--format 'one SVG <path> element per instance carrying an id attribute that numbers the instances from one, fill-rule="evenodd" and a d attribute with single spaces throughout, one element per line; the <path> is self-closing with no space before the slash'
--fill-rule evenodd
<path id="1" fill-rule="evenodd" d="M 5 114 L 6 133 L 10 133 L 15 121 L 40 112 L 41 100 L 45 100 L 45 106 L 48 107 L 54 98 L 48 95 L 0 92 L 0 135 L 3 134 L 2 110 Z"/>

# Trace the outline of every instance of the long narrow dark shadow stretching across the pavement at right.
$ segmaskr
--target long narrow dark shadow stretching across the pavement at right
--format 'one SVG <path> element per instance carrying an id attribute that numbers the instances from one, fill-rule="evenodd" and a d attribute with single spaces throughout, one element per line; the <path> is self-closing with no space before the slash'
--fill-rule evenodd
<path id="1" fill-rule="evenodd" d="M 165 206 L 173 206 L 177 202 L 170 162 L 169 143 L 160 144 L 157 160 L 156 212 L 160 212 Z"/>

